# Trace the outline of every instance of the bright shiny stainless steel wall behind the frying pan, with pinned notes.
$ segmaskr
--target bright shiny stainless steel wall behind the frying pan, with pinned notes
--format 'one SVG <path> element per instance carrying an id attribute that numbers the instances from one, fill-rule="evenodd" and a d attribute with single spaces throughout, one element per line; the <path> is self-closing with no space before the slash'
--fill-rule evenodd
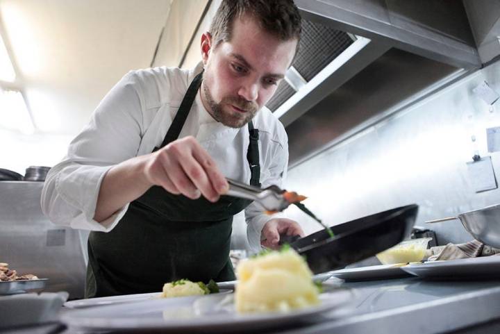
<path id="1" fill-rule="evenodd" d="M 485 128 L 500 126 L 500 108 L 495 106 L 491 112 L 489 106 L 472 93 L 472 89 L 484 80 L 500 91 L 499 78 L 499 62 L 469 74 L 291 167 L 286 188 L 308 196 L 306 205 L 332 225 L 417 203 L 420 210 L 416 224 L 426 226 L 426 220 L 499 203 L 498 189 L 474 191 L 466 167 L 466 162 L 472 161 L 474 149 L 478 149 L 481 156 L 492 157 L 499 179 L 500 155 L 487 153 Z M 401 87 L 393 89 L 397 94 Z M 359 91 L 359 94 L 363 92 Z M 356 95 L 352 98 L 355 99 Z M 339 105 L 333 103 L 329 106 L 331 112 L 346 112 L 338 108 Z M 372 105 L 367 103 L 365 108 L 372 108 Z M 357 116 L 347 113 L 341 117 Z M 328 126 L 331 126 L 332 133 L 336 131 L 335 117 L 324 119 L 318 135 L 327 133 Z M 296 149 L 296 142 L 311 140 L 310 135 L 303 136 L 290 130 L 289 126 L 290 151 Z M 476 137 L 475 144 L 472 135 Z M 299 210 L 290 208 L 287 213 L 290 218 L 301 222 L 307 233 L 319 229 Z M 472 240 L 458 221 L 428 224 L 426 227 L 437 232 L 440 244 Z"/>

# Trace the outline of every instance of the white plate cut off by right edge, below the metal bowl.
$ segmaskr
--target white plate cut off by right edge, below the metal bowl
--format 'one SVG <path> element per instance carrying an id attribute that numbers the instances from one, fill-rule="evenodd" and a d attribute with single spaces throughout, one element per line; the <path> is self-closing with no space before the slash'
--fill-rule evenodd
<path id="1" fill-rule="evenodd" d="M 500 256 L 428 261 L 419 265 L 401 267 L 401 269 L 422 278 L 498 278 L 500 277 Z"/>

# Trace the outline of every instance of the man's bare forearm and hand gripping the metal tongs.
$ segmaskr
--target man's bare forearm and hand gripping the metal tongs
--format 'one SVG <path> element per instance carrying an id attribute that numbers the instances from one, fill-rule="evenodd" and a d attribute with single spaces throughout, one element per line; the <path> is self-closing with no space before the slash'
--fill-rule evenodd
<path id="1" fill-rule="evenodd" d="M 152 185 L 190 199 L 201 195 L 216 202 L 228 190 L 226 178 L 194 137 L 171 142 L 158 151 L 111 167 L 103 178 L 94 214 L 103 222 L 142 196 Z"/>

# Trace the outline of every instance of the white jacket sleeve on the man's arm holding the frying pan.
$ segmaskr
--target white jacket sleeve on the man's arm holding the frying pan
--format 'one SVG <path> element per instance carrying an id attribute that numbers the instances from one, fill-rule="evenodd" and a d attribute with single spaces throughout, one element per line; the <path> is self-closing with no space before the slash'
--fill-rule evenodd
<path id="1" fill-rule="evenodd" d="M 284 130 L 283 130 L 284 133 Z M 280 142 L 274 143 L 274 149 L 270 153 L 269 167 L 261 170 L 260 183 L 262 187 L 269 187 L 269 185 L 278 185 L 283 187 L 283 181 L 286 178 L 288 168 L 288 142 L 285 139 Z M 245 219 L 247 221 L 247 238 L 249 242 L 250 252 L 258 253 L 261 249 L 260 234 L 264 225 L 274 218 L 284 218 L 283 212 L 275 213 L 274 215 L 267 215 L 265 210 L 258 203 L 251 203 L 245 209 Z"/>

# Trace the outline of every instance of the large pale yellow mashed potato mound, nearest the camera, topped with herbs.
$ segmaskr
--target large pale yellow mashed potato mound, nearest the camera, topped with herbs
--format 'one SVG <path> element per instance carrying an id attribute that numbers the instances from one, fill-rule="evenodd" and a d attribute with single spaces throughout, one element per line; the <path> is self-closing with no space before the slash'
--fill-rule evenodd
<path id="1" fill-rule="evenodd" d="M 238 312 L 287 311 L 319 303 L 313 273 L 290 247 L 243 260 L 237 275 Z"/>

